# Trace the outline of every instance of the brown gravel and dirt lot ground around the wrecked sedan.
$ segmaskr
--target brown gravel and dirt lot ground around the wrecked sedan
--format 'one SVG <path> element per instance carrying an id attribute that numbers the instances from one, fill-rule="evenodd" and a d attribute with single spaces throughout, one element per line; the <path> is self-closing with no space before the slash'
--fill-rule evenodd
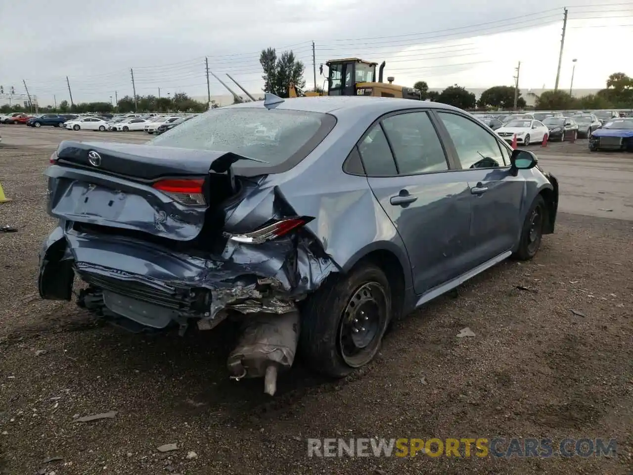
<path id="1" fill-rule="evenodd" d="M 42 170 L 73 132 L 25 129 L 0 126 L 0 182 L 13 198 L 0 225 L 18 228 L 0 233 L 0 472 L 631 473 L 633 221 L 597 217 L 629 217 L 631 158 L 589 158 L 582 143 L 535 148 L 560 170 L 563 212 L 595 216 L 562 213 L 533 262 L 502 263 L 397 322 L 362 374 L 326 381 L 299 362 L 269 398 L 259 380 L 229 380 L 230 326 L 148 338 L 39 300 L 37 252 L 54 225 Z M 579 199 L 588 204 L 575 210 Z M 475 337 L 456 338 L 467 326 Z M 73 422 L 108 411 L 113 419 Z M 306 457 L 306 438 L 373 436 L 617 438 L 618 456 Z M 166 443 L 179 450 L 159 453 Z"/>

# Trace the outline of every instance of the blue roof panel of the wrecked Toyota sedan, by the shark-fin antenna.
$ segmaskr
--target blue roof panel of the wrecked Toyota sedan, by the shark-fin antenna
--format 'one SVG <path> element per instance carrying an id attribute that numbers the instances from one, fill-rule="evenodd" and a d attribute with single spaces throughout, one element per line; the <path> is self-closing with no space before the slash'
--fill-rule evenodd
<path id="1" fill-rule="evenodd" d="M 264 101 L 254 101 L 230 106 L 230 108 L 264 108 Z M 445 109 L 460 110 L 446 104 L 431 101 L 416 101 L 415 99 L 357 97 L 357 96 L 312 96 L 306 98 L 289 98 L 284 102 L 272 105 L 272 108 L 283 110 L 299 110 L 306 112 L 321 112 L 338 115 L 342 112 L 358 113 L 386 113 L 404 109 Z"/>

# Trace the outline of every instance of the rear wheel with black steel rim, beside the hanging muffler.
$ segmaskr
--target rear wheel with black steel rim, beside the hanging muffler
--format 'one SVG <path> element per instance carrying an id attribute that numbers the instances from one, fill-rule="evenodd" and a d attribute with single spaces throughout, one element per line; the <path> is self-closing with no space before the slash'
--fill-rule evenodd
<path id="1" fill-rule="evenodd" d="M 302 306 L 300 348 L 314 371 L 344 377 L 370 362 L 391 319 L 391 289 L 371 263 L 334 274 Z"/>

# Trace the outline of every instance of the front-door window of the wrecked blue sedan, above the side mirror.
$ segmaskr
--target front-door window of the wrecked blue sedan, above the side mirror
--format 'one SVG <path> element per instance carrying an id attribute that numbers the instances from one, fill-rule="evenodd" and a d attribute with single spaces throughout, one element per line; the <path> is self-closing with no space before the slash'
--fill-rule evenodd
<path id="1" fill-rule="evenodd" d="M 463 170 L 505 166 L 499 142 L 482 125 L 457 114 L 437 115 L 448 130 Z"/>

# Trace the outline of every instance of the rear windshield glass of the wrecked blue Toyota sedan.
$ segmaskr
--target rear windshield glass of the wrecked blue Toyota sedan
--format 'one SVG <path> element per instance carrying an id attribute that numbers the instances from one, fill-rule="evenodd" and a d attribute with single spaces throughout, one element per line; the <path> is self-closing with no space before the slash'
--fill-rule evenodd
<path id="1" fill-rule="evenodd" d="M 233 152 L 268 162 L 241 160 L 234 168 L 242 169 L 242 174 L 280 173 L 303 160 L 334 124 L 335 118 L 324 113 L 222 108 L 187 120 L 148 144 Z"/>

